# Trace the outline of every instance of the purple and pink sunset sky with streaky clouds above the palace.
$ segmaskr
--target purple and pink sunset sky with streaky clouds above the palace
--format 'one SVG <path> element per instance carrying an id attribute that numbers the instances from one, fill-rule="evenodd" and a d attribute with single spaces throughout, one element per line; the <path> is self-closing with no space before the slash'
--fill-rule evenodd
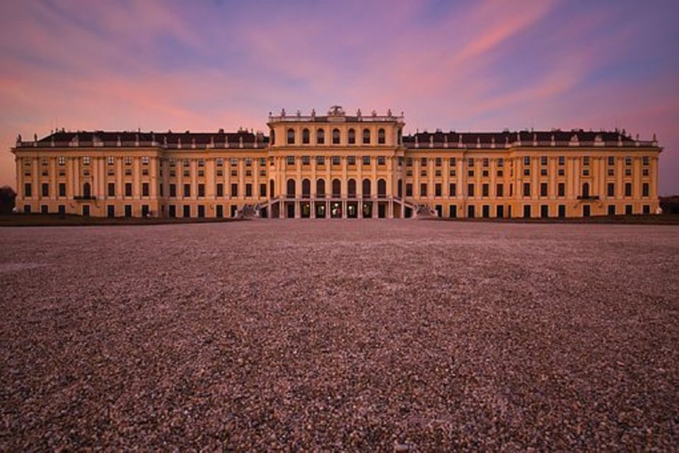
<path id="1" fill-rule="evenodd" d="M 0 185 L 17 134 L 266 132 L 269 112 L 405 113 L 405 132 L 613 130 L 679 194 L 679 1 L 0 2 Z"/>

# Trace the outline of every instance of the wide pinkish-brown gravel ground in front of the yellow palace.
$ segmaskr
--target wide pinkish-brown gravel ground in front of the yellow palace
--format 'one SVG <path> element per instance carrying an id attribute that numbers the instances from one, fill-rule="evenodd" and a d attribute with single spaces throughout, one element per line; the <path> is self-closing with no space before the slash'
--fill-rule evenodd
<path id="1" fill-rule="evenodd" d="M 0 234 L 3 451 L 679 444 L 678 226 Z"/>

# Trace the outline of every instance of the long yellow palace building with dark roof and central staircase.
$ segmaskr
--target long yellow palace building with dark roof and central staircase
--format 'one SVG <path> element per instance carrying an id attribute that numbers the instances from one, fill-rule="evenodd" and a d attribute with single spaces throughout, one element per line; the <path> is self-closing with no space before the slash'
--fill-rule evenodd
<path id="1" fill-rule="evenodd" d="M 656 137 L 417 132 L 333 106 L 262 132 L 54 132 L 16 141 L 23 212 L 100 217 L 583 217 L 658 211 Z"/>

